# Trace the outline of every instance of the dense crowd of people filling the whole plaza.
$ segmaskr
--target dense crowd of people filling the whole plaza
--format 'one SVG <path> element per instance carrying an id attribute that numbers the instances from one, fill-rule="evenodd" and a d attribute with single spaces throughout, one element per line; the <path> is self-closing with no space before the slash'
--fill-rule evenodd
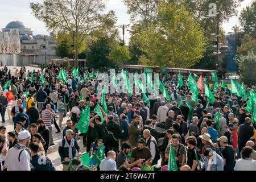
<path id="1" fill-rule="evenodd" d="M 58 77 L 61 69 L 67 82 Z M 105 94 L 107 110 L 101 103 L 99 114 L 94 110 L 102 97 L 97 75 L 84 78 L 84 73 L 93 71 L 81 67 L 74 77 L 73 69 L 49 64 L 31 72 L 25 67 L 14 74 L 6 67 L 0 70 L 2 123 L 11 102 L 13 125 L 8 132 L 4 124 L 0 126 L 1 170 L 53 171 L 47 151 L 56 144 L 64 171 L 164 171 L 171 151 L 180 171 L 256 170 L 255 121 L 245 109 L 246 100 L 227 85 L 213 93 L 213 103 L 202 92 L 195 102 L 187 76 L 180 87 L 177 76 L 162 73 L 160 80 L 170 97 L 159 90 L 156 99 L 146 102 L 140 93 L 109 93 Z M 255 94 L 256 85 L 244 86 Z M 81 133 L 77 125 L 87 106 L 88 130 Z M 220 123 L 213 119 L 216 114 Z M 65 125 L 64 118 L 68 118 Z M 59 143 L 54 143 L 53 125 L 61 135 Z M 87 165 L 81 160 L 82 147 L 89 152 Z"/>

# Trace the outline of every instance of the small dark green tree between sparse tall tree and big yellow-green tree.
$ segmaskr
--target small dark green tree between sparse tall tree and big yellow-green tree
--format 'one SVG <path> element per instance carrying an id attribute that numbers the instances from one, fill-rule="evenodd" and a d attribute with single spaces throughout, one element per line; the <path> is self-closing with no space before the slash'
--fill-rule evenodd
<path id="1" fill-rule="evenodd" d="M 86 58 L 90 67 L 96 69 L 114 67 L 114 64 L 108 57 L 112 43 L 113 39 L 107 36 L 101 36 L 93 40 L 86 51 Z"/>

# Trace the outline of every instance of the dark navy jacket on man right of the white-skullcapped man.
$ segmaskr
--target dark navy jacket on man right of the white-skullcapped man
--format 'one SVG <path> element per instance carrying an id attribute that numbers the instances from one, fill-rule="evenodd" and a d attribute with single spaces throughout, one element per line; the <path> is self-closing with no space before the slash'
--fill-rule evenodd
<path id="1" fill-rule="evenodd" d="M 35 171 L 56 171 L 51 160 L 47 156 L 34 155 L 30 162 L 32 166 L 34 166 Z"/>

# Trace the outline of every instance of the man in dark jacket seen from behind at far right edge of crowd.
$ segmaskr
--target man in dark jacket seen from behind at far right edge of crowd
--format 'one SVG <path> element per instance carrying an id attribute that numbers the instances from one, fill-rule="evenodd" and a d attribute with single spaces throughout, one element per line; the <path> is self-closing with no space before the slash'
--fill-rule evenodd
<path id="1" fill-rule="evenodd" d="M 247 117 L 245 118 L 245 123 L 240 125 L 237 129 L 239 152 L 242 151 L 242 148 L 245 146 L 246 142 L 254 135 L 254 127 L 250 124 L 251 119 Z"/>

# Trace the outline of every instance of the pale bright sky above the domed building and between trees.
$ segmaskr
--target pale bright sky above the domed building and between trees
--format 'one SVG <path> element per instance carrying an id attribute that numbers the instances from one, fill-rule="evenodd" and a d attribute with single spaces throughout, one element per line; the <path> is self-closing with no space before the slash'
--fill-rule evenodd
<path id="1" fill-rule="evenodd" d="M 42 22 L 35 19 L 31 14 L 30 2 L 42 2 L 43 0 L 0 0 L 0 28 L 5 28 L 5 26 L 12 22 L 13 20 L 19 20 L 23 22 L 27 28 L 31 28 L 34 35 L 42 34 L 48 35 L 46 27 Z M 241 6 L 238 7 L 238 10 L 241 11 L 246 6 L 249 6 L 251 2 L 255 0 L 245 0 L 241 3 Z M 123 4 L 122 0 L 109 0 L 106 2 L 106 10 L 114 10 L 116 16 L 118 17 L 117 26 L 120 24 L 131 24 L 130 16 L 127 14 L 127 7 Z M 238 15 L 239 16 L 239 15 Z M 224 22 L 222 27 L 225 32 L 232 32 L 232 27 L 235 24 L 239 24 L 238 16 L 233 16 L 229 19 L 229 22 Z M 122 30 L 120 28 L 120 35 Z M 122 35 L 121 35 L 122 36 Z M 128 31 L 125 31 L 125 42 L 129 41 L 130 35 Z"/>

